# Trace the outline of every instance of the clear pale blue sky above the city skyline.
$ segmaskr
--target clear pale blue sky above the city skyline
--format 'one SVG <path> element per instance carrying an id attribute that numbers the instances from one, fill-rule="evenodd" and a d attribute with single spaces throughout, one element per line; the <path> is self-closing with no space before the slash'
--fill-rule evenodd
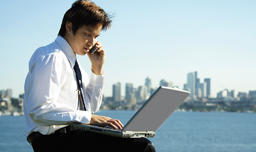
<path id="1" fill-rule="evenodd" d="M 33 52 L 53 42 L 74 0 L 14 0 L 0 5 L 0 90 L 24 93 Z M 102 32 L 107 60 L 104 94 L 121 82 L 142 86 L 150 77 L 183 88 L 189 72 L 211 78 L 211 95 L 224 89 L 256 90 L 256 1 L 95 0 L 115 18 Z M 78 57 L 87 73 L 90 61 Z"/>

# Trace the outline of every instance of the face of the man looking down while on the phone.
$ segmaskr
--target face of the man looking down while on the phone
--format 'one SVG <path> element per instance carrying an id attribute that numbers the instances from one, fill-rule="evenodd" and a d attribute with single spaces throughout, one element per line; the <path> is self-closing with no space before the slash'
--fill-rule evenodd
<path id="1" fill-rule="evenodd" d="M 82 26 L 75 35 L 72 31 L 66 32 L 65 39 L 76 54 L 85 55 L 97 42 L 97 37 L 100 36 L 102 26 L 88 27 Z"/>

